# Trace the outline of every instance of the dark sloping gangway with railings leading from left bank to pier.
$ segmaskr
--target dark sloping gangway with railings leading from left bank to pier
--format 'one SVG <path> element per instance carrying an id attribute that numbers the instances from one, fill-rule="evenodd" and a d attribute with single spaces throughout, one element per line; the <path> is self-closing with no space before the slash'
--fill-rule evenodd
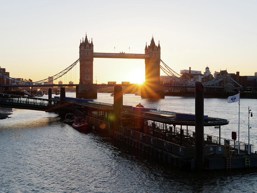
<path id="1" fill-rule="evenodd" d="M 66 113 L 73 111 L 73 104 L 55 99 L 43 99 L 0 93 L 0 107 Z"/>

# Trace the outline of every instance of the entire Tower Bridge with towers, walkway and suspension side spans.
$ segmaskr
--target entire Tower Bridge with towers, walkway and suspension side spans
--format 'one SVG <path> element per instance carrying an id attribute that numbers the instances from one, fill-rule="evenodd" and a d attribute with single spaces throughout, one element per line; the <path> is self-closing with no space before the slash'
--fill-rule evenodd
<path id="1" fill-rule="evenodd" d="M 182 77 L 175 71 L 173 71 L 166 63 L 164 63 L 160 58 L 160 42 L 158 45 L 155 44 L 154 38 L 152 37 L 150 45 L 145 45 L 144 53 L 102 53 L 94 52 L 93 39 L 87 39 L 87 34 L 85 39 L 83 37 L 82 42 L 79 45 L 79 59 L 77 59 L 73 64 L 64 69 L 63 71 L 48 77 L 46 79 L 27 82 L 21 79 L 15 79 L 9 77 L 5 73 L 0 71 L 0 91 L 1 87 L 56 87 L 56 86 L 76 86 L 76 97 L 78 98 L 97 98 L 97 89 L 110 87 L 113 85 L 109 84 L 93 84 L 93 60 L 94 58 L 123 58 L 123 59 L 144 59 L 145 63 L 145 82 L 141 87 L 141 97 L 142 98 L 164 98 L 164 87 L 181 87 L 181 88 L 192 88 L 195 82 L 185 77 Z M 67 83 L 67 73 L 70 73 L 72 69 L 75 68 L 79 62 L 79 84 L 63 84 L 59 81 L 58 84 L 53 84 L 53 81 L 57 81 L 61 77 L 66 75 Z M 160 69 L 169 76 L 170 79 L 167 85 L 160 84 Z M 71 73 L 70 73 L 71 74 Z M 8 80 L 8 81 L 6 81 Z M 204 87 L 216 89 L 224 88 L 224 82 L 231 85 L 235 84 L 234 80 L 228 78 L 216 78 L 208 82 L 203 83 Z M 232 82 L 234 81 L 234 82 Z M 12 83 L 15 84 L 12 84 Z M 3 84 L 4 83 L 4 84 Z M 238 84 L 238 83 L 237 83 Z"/>

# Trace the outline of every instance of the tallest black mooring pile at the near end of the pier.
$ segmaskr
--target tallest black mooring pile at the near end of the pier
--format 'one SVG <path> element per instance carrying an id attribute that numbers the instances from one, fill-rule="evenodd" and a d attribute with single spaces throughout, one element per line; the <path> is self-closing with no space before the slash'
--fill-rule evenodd
<path id="1" fill-rule="evenodd" d="M 204 170 L 204 87 L 195 83 L 195 164 L 196 171 Z"/>

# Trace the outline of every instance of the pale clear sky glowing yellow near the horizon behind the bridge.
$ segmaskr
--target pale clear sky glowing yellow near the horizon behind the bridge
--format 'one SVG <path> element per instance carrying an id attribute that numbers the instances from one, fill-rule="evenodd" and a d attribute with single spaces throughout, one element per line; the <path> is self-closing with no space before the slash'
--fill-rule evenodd
<path id="1" fill-rule="evenodd" d="M 208 65 L 212 74 L 254 75 L 256 8 L 257 1 L 2 0 L 0 66 L 10 77 L 45 79 L 79 58 L 87 32 L 94 52 L 144 53 L 153 36 L 162 61 L 177 73 L 203 73 Z M 143 59 L 95 58 L 94 83 L 141 83 L 144 68 Z M 79 65 L 68 77 L 79 82 Z"/>

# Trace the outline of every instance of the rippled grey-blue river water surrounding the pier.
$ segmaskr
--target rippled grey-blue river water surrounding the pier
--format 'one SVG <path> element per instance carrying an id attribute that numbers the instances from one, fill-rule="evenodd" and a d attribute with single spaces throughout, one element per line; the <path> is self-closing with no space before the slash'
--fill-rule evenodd
<path id="1" fill-rule="evenodd" d="M 94 101 L 113 103 L 113 97 L 98 93 Z M 192 114 L 195 108 L 188 97 L 148 100 L 126 94 L 123 103 Z M 248 106 L 250 143 L 256 145 L 256 99 L 240 100 L 240 141 L 248 142 Z M 238 103 L 206 98 L 204 114 L 230 121 L 221 127 L 221 137 L 238 133 Z M 0 192 L 257 192 L 256 169 L 183 172 L 101 134 L 78 132 L 58 114 L 13 109 L 9 117 L 0 120 Z M 214 127 L 204 133 L 218 136 Z"/>

